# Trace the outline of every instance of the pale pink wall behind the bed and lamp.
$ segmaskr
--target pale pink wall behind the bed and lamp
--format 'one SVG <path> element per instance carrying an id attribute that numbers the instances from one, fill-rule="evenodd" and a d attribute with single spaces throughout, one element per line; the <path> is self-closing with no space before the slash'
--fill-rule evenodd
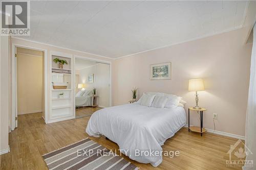
<path id="1" fill-rule="evenodd" d="M 188 79 L 203 78 L 205 91 L 199 92 L 199 106 L 208 109 L 204 127 L 214 129 L 212 113 L 217 113 L 217 131 L 244 136 L 252 48 L 243 44 L 245 36 L 245 30 L 239 29 L 115 60 L 113 105 L 131 100 L 136 86 L 139 96 L 147 91 L 182 96 L 187 112 L 195 105 Z M 172 80 L 150 80 L 150 65 L 163 62 L 172 62 Z M 196 113 L 191 113 L 191 125 L 200 125 Z"/>

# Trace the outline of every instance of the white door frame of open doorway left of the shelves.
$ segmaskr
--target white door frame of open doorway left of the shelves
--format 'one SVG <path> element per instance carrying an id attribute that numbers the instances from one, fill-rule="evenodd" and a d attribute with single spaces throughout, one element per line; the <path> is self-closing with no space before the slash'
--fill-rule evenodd
<path id="1" fill-rule="evenodd" d="M 44 74 L 45 74 L 45 123 L 48 123 L 48 63 L 47 63 L 47 49 L 42 49 L 42 48 L 36 48 L 36 47 L 31 47 L 31 46 L 26 46 L 22 44 L 16 44 L 12 43 L 12 68 L 11 68 L 11 76 L 12 76 L 12 125 L 11 125 L 11 130 L 14 130 L 17 127 L 17 124 L 15 122 L 16 118 L 16 112 L 17 112 L 17 81 L 16 81 L 16 72 L 17 72 L 17 67 L 15 65 L 15 47 L 22 47 L 22 48 L 27 48 L 30 50 L 37 50 L 44 52 Z"/>

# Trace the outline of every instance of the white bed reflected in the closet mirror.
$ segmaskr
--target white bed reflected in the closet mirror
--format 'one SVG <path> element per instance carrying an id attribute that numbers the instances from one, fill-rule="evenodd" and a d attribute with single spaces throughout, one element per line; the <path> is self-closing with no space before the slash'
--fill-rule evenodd
<path id="1" fill-rule="evenodd" d="M 76 98 L 75 98 L 76 107 L 92 106 L 92 90 L 84 90 L 82 94 L 81 93 L 78 94 L 78 93 L 76 94 Z"/>

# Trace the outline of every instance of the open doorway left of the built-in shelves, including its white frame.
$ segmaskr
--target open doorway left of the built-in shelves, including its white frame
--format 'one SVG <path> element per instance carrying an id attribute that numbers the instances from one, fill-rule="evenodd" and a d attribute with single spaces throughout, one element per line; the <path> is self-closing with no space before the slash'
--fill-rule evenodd
<path id="1" fill-rule="evenodd" d="M 46 51 L 13 45 L 12 130 L 26 117 L 45 122 L 47 110 Z M 40 120 L 41 119 L 41 120 Z"/>

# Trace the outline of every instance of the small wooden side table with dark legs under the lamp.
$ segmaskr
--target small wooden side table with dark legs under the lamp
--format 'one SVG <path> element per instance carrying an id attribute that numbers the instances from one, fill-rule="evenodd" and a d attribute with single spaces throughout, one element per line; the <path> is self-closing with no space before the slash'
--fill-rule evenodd
<path id="1" fill-rule="evenodd" d="M 190 111 L 194 110 L 199 112 L 200 111 L 200 127 L 197 126 L 191 126 L 190 127 Z M 203 128 L 203 112 L 206 111 L 207 109 L 205 108 L 200 108 L 200 109 L 195 109 L 194 107 L 189 107 L 188 108 L 188 132 L 193 131 L 193 132 L 198 132 L 201 133 L 201 136 L 204 132 L 206 132 L 205 128 Z"/>

